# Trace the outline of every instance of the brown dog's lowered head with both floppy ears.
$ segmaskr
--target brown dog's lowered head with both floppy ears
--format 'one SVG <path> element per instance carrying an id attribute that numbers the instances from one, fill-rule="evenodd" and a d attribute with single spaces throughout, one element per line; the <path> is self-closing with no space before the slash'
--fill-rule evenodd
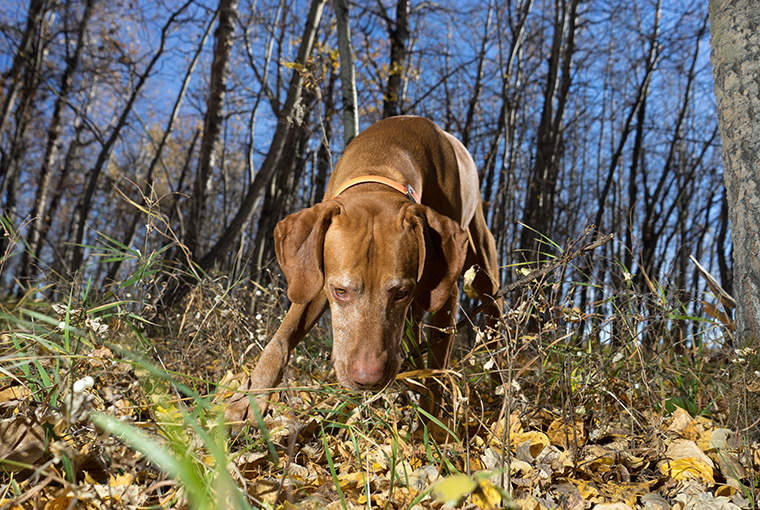
<path id="1" fill-rule="evenodd" d="M 340 198 L 288 216 L 275 249 L 288 297 L 307 303 L 324 292 L 333 326 L 333 364 L 350 389 L 379 389 L 401 365 L 412 301 L 429 312 L 451 296 L 467 235 L 431 208 Z"/>

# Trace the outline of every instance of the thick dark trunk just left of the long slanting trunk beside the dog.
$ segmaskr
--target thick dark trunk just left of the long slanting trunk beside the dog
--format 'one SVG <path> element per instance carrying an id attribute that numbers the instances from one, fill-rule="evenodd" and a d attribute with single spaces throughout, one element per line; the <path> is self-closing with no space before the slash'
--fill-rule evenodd
<path id="1" fill-rule="evenodd" d="M 203 239 L 203 224 L 206 220 L 207 202 L 210 199 L 211 183 L 216 149 L 222 135 L 224 121 L 224 100 L 227 95 L 227 78 L 230 70 L 230 56 L 237 22 L 238 0 L 219 0 L 219 25 L 214 34 L 214 59 L 211 63 L 211 83 L 209 85 L 206 116 L 203 122 L 203 138 L 198 160 L 198 172 L 193 183 L 190 212 L 185 221 L 185 246 L 194 258 L 200 255 L 200 240 Z"/>

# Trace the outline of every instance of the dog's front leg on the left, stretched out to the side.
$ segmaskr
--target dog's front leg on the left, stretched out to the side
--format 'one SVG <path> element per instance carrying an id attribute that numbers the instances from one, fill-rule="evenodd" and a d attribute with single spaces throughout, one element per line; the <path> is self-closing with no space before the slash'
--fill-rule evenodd
<path id="1" fill-rule="evenodd" d="M 257 396 L 259 411 L 262 414 L 266 412 L 269 399 L 262 392 L 277 387 L 293 349 L 314 327 L 325 310 L 327 298 L 324 292 L 320 292 L 309 303 L 293 303 L 290 306 L 277 332 L 261 352 L 253 373 L 240 384 L 237 393 L 227 402 L 224 417 L 230 425 L 240 427 L 253 421 L 251 398 L 254 395 Z"/>

